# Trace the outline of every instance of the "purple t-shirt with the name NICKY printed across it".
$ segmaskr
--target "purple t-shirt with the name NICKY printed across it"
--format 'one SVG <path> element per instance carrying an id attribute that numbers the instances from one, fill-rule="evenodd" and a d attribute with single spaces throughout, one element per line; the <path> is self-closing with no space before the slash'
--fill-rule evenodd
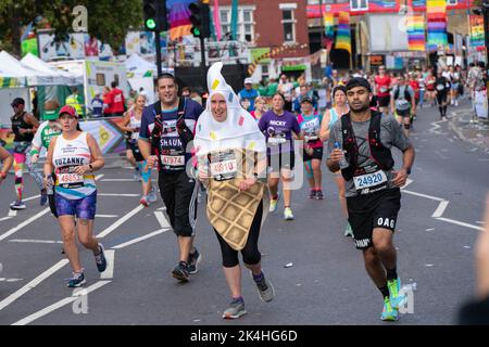
<path id="1" fill-rule="evenodd" d="M 268 154 L 293 152 L 292 131 L 297 134 L 301 132 L 296 115 L 288 111 L 284 111 L 281 116 L 267 111 L 260 118 L 259 128 L 266 137 Z"/>

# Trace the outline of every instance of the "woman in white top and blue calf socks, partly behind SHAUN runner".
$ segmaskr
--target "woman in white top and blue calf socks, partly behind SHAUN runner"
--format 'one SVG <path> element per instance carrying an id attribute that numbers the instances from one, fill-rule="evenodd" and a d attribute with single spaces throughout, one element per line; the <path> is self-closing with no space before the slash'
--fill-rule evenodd
<path id="1" fill-rule="evenodd" d="M 148 207 L 150 203 L 156 202 L 156 190 L 151 184 L 151 168 L 147 165 L 138 146 L 139 128 L 141 127 L 141 117 L 146 101 L 145 94 L 136 97 L 134 108 L 126 112 L 121 129 L 130 132 L 130 139 L 128 141 L 129 151 L 136 160 L 137 169 L 141 172 L 142 196 L 139 203 Z"/>

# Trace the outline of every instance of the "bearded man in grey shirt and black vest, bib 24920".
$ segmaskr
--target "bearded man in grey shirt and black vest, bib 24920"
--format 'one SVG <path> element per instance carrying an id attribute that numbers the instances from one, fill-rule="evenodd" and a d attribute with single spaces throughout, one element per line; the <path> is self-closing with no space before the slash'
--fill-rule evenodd
<path id="1" fill-rule="evenodd" d="M 392 116 L 371 111 L 371 98 L 366 79 L 348 82 L 350 113 L 331 128 L 326 164 L 333 172 L 341 169 L 355 245 L 363 252 L 367 273 L 384 297 L 380 318 L 394 321 L 406 297 L 399 293 L 401 280 L 392 236 L 401 207 L 400 187 L 411 171 L 414 149 Z M 403 153 L 399 170 L 393 169 L 392 146 Z"/>

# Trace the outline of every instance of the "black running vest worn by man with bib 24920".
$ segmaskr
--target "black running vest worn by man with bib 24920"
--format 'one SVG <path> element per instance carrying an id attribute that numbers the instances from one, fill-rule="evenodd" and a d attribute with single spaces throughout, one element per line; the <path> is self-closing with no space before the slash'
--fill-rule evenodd
<path id="1" fill-rule="evenodd" d="M 390 150 L 386 149 L 380 142 L 380 118 L 381 113 L 372 113 L 367 141 L 372 159 L 376 163 L 377 168 L 387 171 L 393 167 L 394 162 Z M 369 174 L 365 171 L 365 168 L 359 166 L 359 146 L 353 132 L 350 113 L 341 117 L 341 133 L 343 151 L 346 151 L 344 158 L 349 164 L 347 168 L 341 169 L 344 180 L 349 181 L 355 176 Z"/>

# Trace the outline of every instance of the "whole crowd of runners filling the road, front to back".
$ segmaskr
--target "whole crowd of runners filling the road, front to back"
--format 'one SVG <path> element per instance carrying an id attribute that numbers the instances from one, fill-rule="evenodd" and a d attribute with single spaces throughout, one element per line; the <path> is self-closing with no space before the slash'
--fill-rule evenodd
<path id="1" fill-rule="evenodd" d="M 163 74 L 156 80 L 159 101 L 148 104 L 145 94 L 136 95 L 121 124 L 135 180 L 142 184 L 140 204 L 156 203 L 159 190 L 177 236 L 178 261 L 172 275 L 187 282 L 198 272 L 202 255 L 195 245 L 197 197 L 205 190 L 206 216 L 221 245 L 231 297 L 223 318 L 246 313 L 238 253 L 261 299 L 273 300 L 273 273 L 265 277 L 259 250 L 263 221 L 277 211 L 279 201 L 284 219 L 296 218 L 291 184 L 298 168 L 305 171 L 308 197 L 323 200 L 322 170 L 327 168 L 335 174 L 344 235 L 363 253 L 365 269 L 381 293 L 380 318 L 397 320 L 406 297 L 400 292 L 392 240 L 400 187 L 414 163 L 409 134 L 416 110 L 437 105 L 444 119 L 447 107 L 456 107 L 462 94 L 471 94 L 480 76 L 459 67 L 392 75 L 380 66 L 374 76 L 361 70 L 339 76 L 333 70 L 323 81 L 326 93 L 303 78 L 294 85 L 284 75 L 273 93 L 266 89 L 261 95 L 250 79 L 236 93 L 221 68 L 216 63 L 208 73 L 205 104 L 181 97 L 175 77 Z M 0 146 L 0 183 L 13 166 L 17 198 L 10 207 L 25 209 L 27 166 L 38 184 L 40 205 L 49 202 L 58 218 L 73 269 L 67 286 L 82 286 L 86 277 L 76 239 L 93 253 L 98 271 L 106 268 L 103 245 L 93 237 L 93 172 L 104 159 L 93 137 L 80 129 L 73 106 L 48 101 L 42 124 L 24 106 L 20 98 L 12 102 L 13 157 Z M 402 152 L 400 163 L 393 160 L 392 146 Z M 47 157 L 40 175 L 36 165 L 42 147 Z M 152 169 L 158 183 L 152 182 Z"/>

